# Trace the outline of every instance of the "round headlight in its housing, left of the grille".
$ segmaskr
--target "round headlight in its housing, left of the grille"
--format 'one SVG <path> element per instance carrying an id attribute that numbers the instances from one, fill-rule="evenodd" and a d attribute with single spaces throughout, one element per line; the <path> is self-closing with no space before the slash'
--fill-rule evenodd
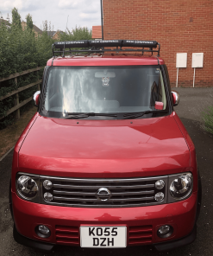
<path id="1" fill-rule="evenodd" d="M 18 175 L 16 176 L 16 191 L 22 199 L 38 202 L 39 179 L 37 176 Z"/>

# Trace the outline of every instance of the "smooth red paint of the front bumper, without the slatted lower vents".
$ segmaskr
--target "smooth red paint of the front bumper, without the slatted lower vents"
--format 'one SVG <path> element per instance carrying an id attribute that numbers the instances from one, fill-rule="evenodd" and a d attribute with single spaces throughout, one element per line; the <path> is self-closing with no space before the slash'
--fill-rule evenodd
<path id="1" fill-rule="evenodd" d="M 124 225 L 141 227 L 152 225 L 152 243 L 175 240 L 190 234 L 196 217 L 197 192 L 182 202 L 139 208 L 68 208 L 26 202 L 12 193 L 16 228 L 20 234 L 49 243 L 56 243 L 55 226 L 80 227 L 81 225 Z M 172 215 L 172 218 L 171 218 Z M 51 227 L 52 235 L 41 239 L 34 233 L 36 225 Z M 156 233 L 162 225 L 174 227 L 174 234 L 160 239 Z M 128 234 L 128 233 L 127 233 Z"/>

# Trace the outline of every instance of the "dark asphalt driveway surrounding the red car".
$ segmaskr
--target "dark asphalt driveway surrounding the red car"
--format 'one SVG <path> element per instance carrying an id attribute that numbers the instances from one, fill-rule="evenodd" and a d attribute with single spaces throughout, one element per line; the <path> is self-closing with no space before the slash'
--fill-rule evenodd
<path id="1" fill-rule="evenodd" d="M 158 253 L 152 246 L 135 246 L 125 249 L 83 249 L 80 247 L 57 246 L 48 255 L 213 255 L 213 137 L 204 132 L 201 125 L 202 112 L 208 104 L 213 104 L 212 88 L 178 88 L 179 106 L 175 110 L 179 114 L 197 149 L 197 162 L 202 176 L 203 202 L 199 220 L 197 221 L 197 240 L 189 246 L 168 253 Z M 13 221 L 9 213 L 9 178 L 12 155 L 0 162 L 0 255 L 44 256 L 47 253 L 36 252 L 13 240 Z M 24 223 L 23 223 L 24 225 Z"/>

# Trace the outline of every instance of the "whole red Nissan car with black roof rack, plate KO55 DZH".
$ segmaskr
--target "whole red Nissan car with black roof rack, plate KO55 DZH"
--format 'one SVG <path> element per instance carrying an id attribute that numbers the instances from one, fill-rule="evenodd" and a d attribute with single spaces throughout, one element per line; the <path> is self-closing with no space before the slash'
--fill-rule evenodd
<path id="1" fill-rule="evenodd" d="M 54 43 L 14 150 L 18 243 L 166 251 L 196 239 L 196 152 L 159 54 L 154 41 Z"/>

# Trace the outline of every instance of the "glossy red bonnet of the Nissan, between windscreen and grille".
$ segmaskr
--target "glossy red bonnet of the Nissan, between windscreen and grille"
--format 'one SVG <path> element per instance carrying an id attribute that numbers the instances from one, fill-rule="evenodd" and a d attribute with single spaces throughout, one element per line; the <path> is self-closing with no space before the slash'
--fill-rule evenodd
<path id="1" fill-rule="evenodd" d="M 133 120 L 38 115 L 19 151 L 19 170 L 72 177 L 156 176 L 187 171 L 190 151 L 174 114 Z"/>

